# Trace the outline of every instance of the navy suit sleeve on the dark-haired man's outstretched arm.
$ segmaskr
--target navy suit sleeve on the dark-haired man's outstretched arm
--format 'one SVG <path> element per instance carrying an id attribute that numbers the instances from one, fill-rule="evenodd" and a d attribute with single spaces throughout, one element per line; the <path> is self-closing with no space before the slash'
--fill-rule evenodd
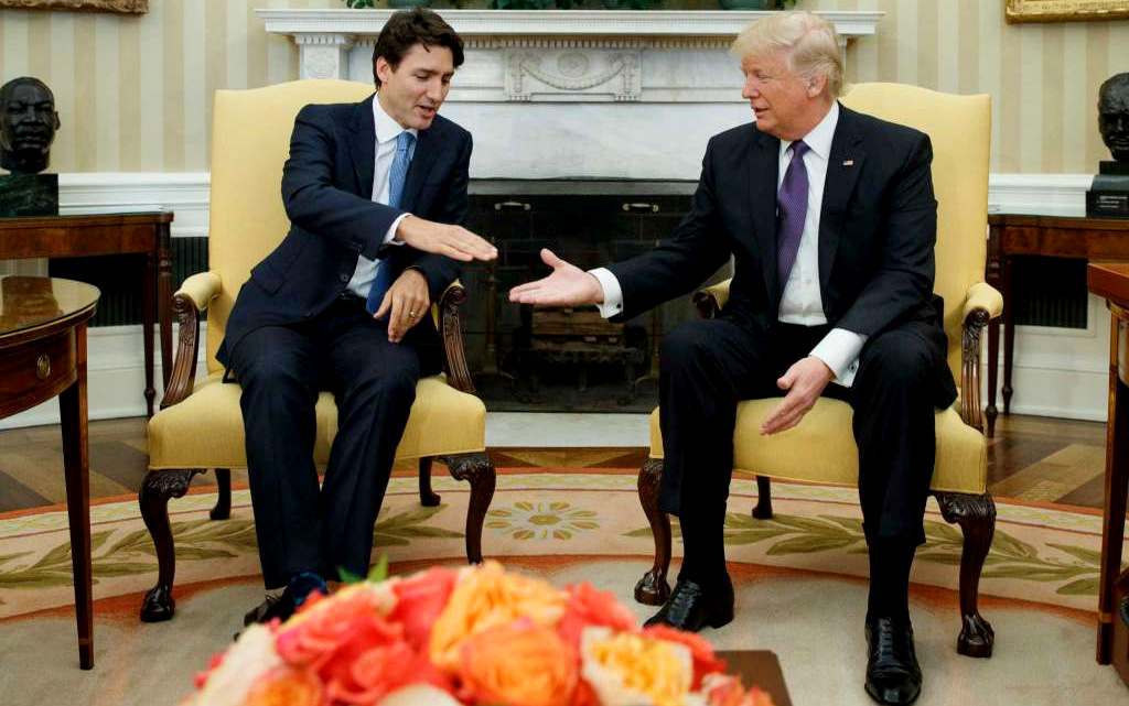
<path id="1" fill-rule="evenodd" d="M 333 180 L 339 145 L 322 107 L 307 105 L 295 118 L 290 157 L 282 168 L 282 203 L 290 222 L 369 259 L 403 213 L 340 188 Z"/>

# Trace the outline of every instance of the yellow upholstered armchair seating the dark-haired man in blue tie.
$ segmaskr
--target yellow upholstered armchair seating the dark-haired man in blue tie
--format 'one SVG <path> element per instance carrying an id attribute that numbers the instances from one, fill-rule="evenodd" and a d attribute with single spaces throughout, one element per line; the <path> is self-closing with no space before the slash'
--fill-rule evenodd
<path id="1" fill-rule="evenodd" d="M 240 388 L 221 382 L 216 351 L 228 315 L 251 268 L 281 241 L 289 222 L 280 179 L 290 131 L 298 111 L 309 103 L 355 103 L 373 87 L 338 80 L 294 81 L 254 90 L 216 91 L 208 238 L 209 271 L 192 275 L 174 297 L 180 345 L 161 401 L 149 421 L 149 473 L 139 501 L 157 547 L 157 585 L 145 597 L 141 619 L 173 617 L 175 556 L 168 500 L 181 497 L 192 477 L 215 469 L 219 500 L 213 520 L 230 512 L 230 469 L 247 465 L 244 452 Z M 447 355 L 446 374 L 419 381 L 396 460 L 419 461 L 420 501 L 439 504 L 431 492 L 431 461 L 441 459 L 452 476 L 471 484 L 466 514 L 466 558 L 482 561 L 482 521 L 495 491 L 495 468 L 485 456 L 485 406 L 473 391 L 463 352 L 458 306 L 466 293 L 453 284 L 432 307 Z M 200 315 L 208 312 L 207 379 L 195 382 Z M 426 324 L 422 324 L 426 325 Z M 329 461 L 336 433 L 336 405 L 322 392 L 317 401 L 315 460 Z"/>

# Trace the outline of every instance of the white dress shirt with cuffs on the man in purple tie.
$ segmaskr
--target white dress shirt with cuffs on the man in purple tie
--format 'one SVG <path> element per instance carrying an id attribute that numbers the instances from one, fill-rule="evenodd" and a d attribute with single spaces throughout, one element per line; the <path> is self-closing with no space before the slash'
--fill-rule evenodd
<path id="1" fill-rule="evenodd" d="M 820 212 L 823 204 L 823 185 L 828 176 L 828 158 L 831 156 L 831 141 L 839 123 L 839 104 L 832 103 L 831 109 L 807 135 L 804 142 L 811 148 L 804 155 L 804 166 L 807 168 L 807 215 L 804 218 L 804 232 L 800 235 L 799 250 L 796 262 L 788 275 L 784 293 L 780 298 L 779 319 L 785 324 L 802 326 L 820 326 L 828 323 L 823 315 L 823 298 L 820 292 Z M 780 169 L 777 188 L 784 182 L 785 171 L 791 161 L 791 142 L 780 142 Z M 615 275 L 605 267 L 589 271 L 599 281 L 604 290 L 604 303 L 599 312 L 604 318 L 623 310 L 623 290 Z M 833 328 L 820 343 L 812 348 L 811 355 L 826 363 L 834 373 L 834 381 L 850 387 L 858 372 L 858 355 L 866 343 L 866 336 L 844 328 Z"/>

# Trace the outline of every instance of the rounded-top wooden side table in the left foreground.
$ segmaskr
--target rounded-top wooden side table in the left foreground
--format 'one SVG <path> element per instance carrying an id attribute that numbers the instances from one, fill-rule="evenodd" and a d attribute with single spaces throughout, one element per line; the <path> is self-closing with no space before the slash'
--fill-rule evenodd
<path id="1" fill-rule="evenodd" d="M 94 667 L 86 325 L 97 302 L 97 288 L 81 282 L 0 277 L 0 418 L 59 396 L 82 669 Z"/>

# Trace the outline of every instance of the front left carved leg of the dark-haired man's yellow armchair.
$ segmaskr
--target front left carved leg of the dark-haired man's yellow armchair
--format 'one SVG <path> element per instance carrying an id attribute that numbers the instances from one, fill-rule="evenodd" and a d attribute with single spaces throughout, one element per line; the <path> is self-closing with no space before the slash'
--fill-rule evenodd
<path id="1" fill-rule="evenodd" d="M 141 602 L 141 620 L 145 623 L 168 620 L 176 611 L 176 602 L 173 600 L 176 554 L 173 549 L 173 529 L 168 524 L 168 498 L 183 497 L 192 477 L 199 473 L 203 473 L 203 469 L 154 469 L 141 480 L 141 489 L 138 492 L 141 519 L 157 547 L 157 585 L 146 592 Z"/>

